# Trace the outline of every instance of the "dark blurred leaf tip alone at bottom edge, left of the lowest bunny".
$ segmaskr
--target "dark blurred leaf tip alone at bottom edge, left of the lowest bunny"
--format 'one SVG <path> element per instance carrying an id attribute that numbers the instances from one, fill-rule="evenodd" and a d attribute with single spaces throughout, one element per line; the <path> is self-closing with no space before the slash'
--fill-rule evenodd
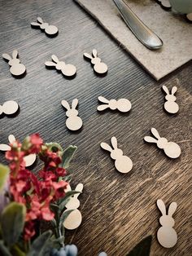
<path id="1" fill-rule="evenodd" d="M 152 236 L 146 236 L 140 241 L 127 256 L 149 256 L 151 249 Z"/>

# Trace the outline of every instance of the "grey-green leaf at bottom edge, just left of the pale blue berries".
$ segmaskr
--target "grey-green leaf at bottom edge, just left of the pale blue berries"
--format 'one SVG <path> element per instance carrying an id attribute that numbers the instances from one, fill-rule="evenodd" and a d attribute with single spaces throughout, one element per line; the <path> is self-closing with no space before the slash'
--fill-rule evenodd
<path id="1" fill-rule="evenodd" d="M 46 251 L 47 242 L 50 241 L 50 236 L 52 232 L 50 230 L 38 236 L 31 246 L 31 249 L 28 252 L 28 256 L 44 256 Z"/>

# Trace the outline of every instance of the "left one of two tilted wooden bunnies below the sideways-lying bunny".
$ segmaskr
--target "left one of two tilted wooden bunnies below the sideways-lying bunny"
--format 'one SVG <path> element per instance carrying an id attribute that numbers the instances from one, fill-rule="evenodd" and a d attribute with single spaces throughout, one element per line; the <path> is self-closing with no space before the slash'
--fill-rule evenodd
<path id="1" fill-rule="evenodd" d="M 123 151 L 120 148 L 117 148 L 117 139 L 116 137 L 111 138 L 111 145 L 113 149 L 107 143 L 101 143 L 101 148 L 111 152 L 111 158 L 115 160 L 116 170 L 120 173 L 128 173 L 133 168 L 133 161 L 124 156 Z"/>

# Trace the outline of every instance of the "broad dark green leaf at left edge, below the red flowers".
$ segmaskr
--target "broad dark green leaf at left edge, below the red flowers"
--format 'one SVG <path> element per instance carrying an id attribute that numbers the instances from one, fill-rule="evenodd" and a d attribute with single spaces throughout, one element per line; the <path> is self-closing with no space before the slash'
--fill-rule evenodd
<path id="1" fill-rule="evenodd" d="M 24 229 L 26 207 L 12 202 L 2 211 L 2 237 L 8 246 L 14 245 Z"/>

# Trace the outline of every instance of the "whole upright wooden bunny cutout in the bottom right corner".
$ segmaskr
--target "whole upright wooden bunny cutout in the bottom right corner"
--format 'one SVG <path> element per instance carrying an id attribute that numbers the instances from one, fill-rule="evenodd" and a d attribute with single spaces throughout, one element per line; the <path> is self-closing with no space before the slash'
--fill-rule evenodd
<path id="1" fill-rule="evenodd" d="M 177 232 L 175 232 L 175 230 L 172 228 L 175 224 L 172 214 L 174 214 L 177 209 L 177 203 L 172 202 L 171 205 L 169 205 L 168 215 L 166 214 L 164 201 L 159 199 L 157 201 L 157 206 L 162 214 L 162 216 L 159 218 L 159 223 L 162 227 L 160 227 L 157 232 L 157 239 L 160 245 L 164 246 L 165 248 L 171 248 L 177 244 Z"/>

